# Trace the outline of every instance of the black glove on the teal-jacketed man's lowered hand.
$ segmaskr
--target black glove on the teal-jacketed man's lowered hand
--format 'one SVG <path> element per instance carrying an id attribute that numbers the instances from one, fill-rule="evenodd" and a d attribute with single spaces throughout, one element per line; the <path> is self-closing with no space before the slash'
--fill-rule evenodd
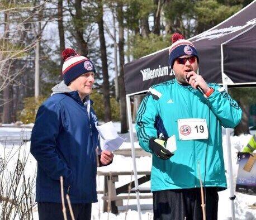
<path id="1" fill-rule="evenodd" d="M 151 137 L 149 139 L 149 148 L 157 155 L 159 158 L 167 160 L 174 154 L 165 148 L 168 138 L 155 138 Z"/>

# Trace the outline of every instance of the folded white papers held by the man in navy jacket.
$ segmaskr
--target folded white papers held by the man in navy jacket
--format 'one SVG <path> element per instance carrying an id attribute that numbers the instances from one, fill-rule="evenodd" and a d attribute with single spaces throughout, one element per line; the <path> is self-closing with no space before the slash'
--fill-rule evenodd
<path id="1" fill-rule="evenodd" d="M 101 137 L 101 150 L 115 151 L 117 150 L 126 139 L 118 136 L 112 122 L 107 122 L 98 126 L 95 122 L 95 127 Z"/>

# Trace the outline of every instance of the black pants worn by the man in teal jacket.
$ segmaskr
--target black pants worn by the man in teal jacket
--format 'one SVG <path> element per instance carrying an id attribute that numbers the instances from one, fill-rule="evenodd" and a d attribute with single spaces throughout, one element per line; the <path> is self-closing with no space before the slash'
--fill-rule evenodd
<path id="1" fill-rule="evenodd" d="M 217 188 L 206 188 L 206 219 L 218 217 Z M 200 188 L 161 190 L 153 192 L 154 220 L 203 219 Z"/>

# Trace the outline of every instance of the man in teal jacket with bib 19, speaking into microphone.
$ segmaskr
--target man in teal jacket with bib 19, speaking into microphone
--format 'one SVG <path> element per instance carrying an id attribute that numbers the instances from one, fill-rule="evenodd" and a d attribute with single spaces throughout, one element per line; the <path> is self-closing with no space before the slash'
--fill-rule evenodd
<path id="1" fill-rule="evenodd" d="M 151 87 L 136 118 L 139 144 L 153 155 L 154 219 L 202 219 L 200 178 L 206 219 L 217 219 L 217 191 L 227 186 L 221 126 L 238 125 L 241 109 L 222 87 L 196 74 L 195 46 L 179 34 L 172 40 L 169 64 L 176 79 Z M 171 136 L 176 143 L 168 143 Z"/>

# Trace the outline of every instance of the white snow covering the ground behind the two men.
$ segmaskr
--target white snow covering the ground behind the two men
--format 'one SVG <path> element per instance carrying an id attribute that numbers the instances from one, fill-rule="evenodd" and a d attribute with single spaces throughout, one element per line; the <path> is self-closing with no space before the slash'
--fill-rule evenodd
<path id="1" fill-rule="evenodd" d="M 120 123 L 114 123 L 117 131 L 120 129 Z M 135 131 L 135 130 L 134 130 Z M 0 127 L 0 157 L 7 152 L 15 151 L 15 149 L 20 145 L 20 142 L 24 140 L 30 140 L 30 128 L 6 128 Z M 224 159 L 225 159 L 225 170 L 227 170 L 227 147 L 226 147 L 226 136 L 223 132 L 223 148 L 224 148 Z M 121 135 L 122 137 L 126 137 L 126 142 L 121 146 L 121 149 L 130 149 L 130 137 L 129 133 Z M 139 148 L 138 140 L 135 137 L 135 148 Z M 241 148 L 249 141 L 251 135 L 241 135 L 233 137 L 231 136 L 231 154 L 232 154 L 232 162 L 233 162 L 233 179 L 234 186 L 236 182 L 236 176 L 238 171 L 238 164 L 236 164 L 236 152 L 241 150 Z M 6 146 L 6 147 L 4 147 Z M 23 154 L 29 155 L 29 160 L 26 164 L 25 176 L 28 178 L 29 176 L 33 176 L 35 174 L 36 161 L 34 157 L 32 157 L 29 153 L 30 142 L 26 142 L 24 145 Z M 15 163 L 15 159 L 13 158 L 10 161 L 10 168 Z M 138 171 L 149 171 L 151 169 L 151 158 L 149 156 L 136 158 L 136 165 Z M 255 164 L 254 164 L 255 166 Z M 124 157 L 120 155 L 116 155 L 113 163 L 110 166 L 106 166 L 104 168 L 99 168 L 101 171 L 132 171 L 132 159 L 131 157 Z M 140 177 L 140 176 L 138 176 Z M 227 179 L 229 178 L 229 173 L 226 173 Z M 116 183 L 116 186 L 121 186 L 128 183 L 130 180 L 134 179 L 133 176 L 121 176 L 119 181 Z M 150 187 L 150 183 L 145 183 L 140 185 L 140 187 Z M 103 190 L 103 177 L 97 176 L 97 190 Z M 256 209 L 251 209 L 249 205 L 252 205 L 256 202 L 256 197 L 253 195 L 246 195 L 241 193 L 236 193 L 235 199 L 235 212 L 236 219 L 256 219 Z M 98 195 L 98 203 L 94 203 L 92 206 L 92 219 L 138 219 L 138 212 L 136 212 L 136 200 L 129 200 L 127 204 L 127 200 L 124 201 L 124 211 L 122 211 L 118 216 L 111 213 L 102 213 L 102 194 Z M 148 209 L 142 211 L 142 219 L 148 220 L 153 219 L 153 211 L 152 211 L 152 199 L 141 199 L 141 207 L 142 209 Z M 127 210 L 127 211 L 126 211 Z M 36 216 L 35 209 L 35 216 Z M 231 217 L 231 206 L 229 200 L 229 189 L 224 190 L 219 193 L 219 219 L 230 219 Z M 37 218 L 35 218 L 37 219 Z"/>

